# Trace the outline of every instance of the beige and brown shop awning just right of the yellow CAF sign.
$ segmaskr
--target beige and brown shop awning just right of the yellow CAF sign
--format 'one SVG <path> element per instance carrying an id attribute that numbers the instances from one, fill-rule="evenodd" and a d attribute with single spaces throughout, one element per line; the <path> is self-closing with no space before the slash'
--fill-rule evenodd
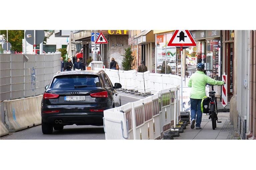
<path id="1" fill-rule="evenodd" d="M 145 30 L 133 40 L 136 41 L 138 45 L 143 45 L 150 42 L 155 42 L 155 36 L 153 34 L 153 30 Z"/>

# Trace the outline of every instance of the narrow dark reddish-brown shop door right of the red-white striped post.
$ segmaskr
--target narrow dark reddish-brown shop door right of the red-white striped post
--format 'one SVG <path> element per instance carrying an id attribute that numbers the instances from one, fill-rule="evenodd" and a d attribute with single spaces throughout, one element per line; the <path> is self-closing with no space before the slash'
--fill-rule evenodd
<path id="1" fill-rule="evenodd" d="M 234 55 L 233 55 L 233 50 L 234 50 L 234 44 L 233 43 L 228 43 L 226 45 L 226 58 L 227 58 L 227 87 L 228 87 L 228 101 L 230 101 L 231 97 L 233 96 L 233 84 L 234 84 L 234 76 L 233 76 L 233 68 L 234 68 Z"/>

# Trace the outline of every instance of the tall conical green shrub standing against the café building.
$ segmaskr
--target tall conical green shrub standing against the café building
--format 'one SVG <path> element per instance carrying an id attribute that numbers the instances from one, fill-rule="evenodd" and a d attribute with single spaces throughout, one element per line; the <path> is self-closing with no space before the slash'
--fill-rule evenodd
<path id="1" fill-rule="evenodd" d="M 131 47 L 125 48 L 125 53 L 122 55 L 123 61 L 122 61 L 122 67 L 124 70 L 131 70 L 132 67 L 134 66 L 133 60 L 134 56 L 132 54 Z"/>

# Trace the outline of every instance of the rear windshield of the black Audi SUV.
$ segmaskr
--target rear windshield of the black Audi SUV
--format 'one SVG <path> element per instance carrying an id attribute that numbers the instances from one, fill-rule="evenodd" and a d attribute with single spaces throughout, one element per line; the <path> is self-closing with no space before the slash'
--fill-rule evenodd
<path id="1" fill-rule="evenodd" d="M 87 88 L 100 87 L 97 75 L 65 75 L 54 78 L 51 88 Z"/>

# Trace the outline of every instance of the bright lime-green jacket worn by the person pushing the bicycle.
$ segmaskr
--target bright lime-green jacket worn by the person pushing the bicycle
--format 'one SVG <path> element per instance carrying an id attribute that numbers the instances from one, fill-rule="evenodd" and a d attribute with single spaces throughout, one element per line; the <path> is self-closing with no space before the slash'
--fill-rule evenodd
<path id="1" fill-rule="evenodd" d="M 196 71 L 191 75 L 188 87 L 192 87 L 190 92 L 190 98 L 203 99 L 206 96 L 205 85 L 206 83 L 211 85 L 223 85 L 224 81 L 217 81 L 204 74 L 202 71 Z"/>

